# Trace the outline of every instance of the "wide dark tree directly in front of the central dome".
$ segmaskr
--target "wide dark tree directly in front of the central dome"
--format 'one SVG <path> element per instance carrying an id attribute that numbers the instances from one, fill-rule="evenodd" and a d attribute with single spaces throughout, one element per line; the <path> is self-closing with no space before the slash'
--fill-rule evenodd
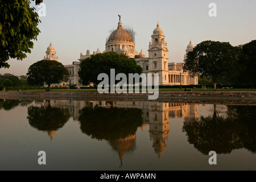
<path id="1" fill-rule="evenodd" d="M 142 67 L 136 64 L 135 59 L 117 52 L 97 53 L 81 61 L 79 77 L 82 85 L 93 83 L 98 85 L 100 73 L 106 73 L 110 77 L 110 69 L 115 69 L 115 75 L 124 73 L 142 73 Z"/>

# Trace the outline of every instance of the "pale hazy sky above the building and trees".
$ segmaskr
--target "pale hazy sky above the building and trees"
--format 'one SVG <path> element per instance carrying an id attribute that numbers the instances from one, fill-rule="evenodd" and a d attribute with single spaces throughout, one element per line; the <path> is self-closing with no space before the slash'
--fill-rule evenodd
<path id="1" fill-rule="evenodd" d="M 204 40 L 229 42 L 238 46 L 256 39 L 255 0 L 44 0 L 46 16 L 40 17 L 41 33 L 34 49 L 22 61 L 10 59 L 9 69 L 0 74 L 26 75 L 28 67 L 46 55 L 49 43 L 55 47 L 59 62 L 67 65 L 78 61 L 80 52 L 105 50 L 110 30 L 117 28 L 119 15 L 123 26 L 136 32 L 135 49 L 148 56 L 148 43 L 159 22 L 168 43 L 169 62 L 183 62 L 191 39 L 194 46 Z M 208 7 L 216 3 L 217 16 L 210 17 Z M 31 3 L 35 6 L 35 2 Z M 36 11 L 39 11 L 39 7 Z"/>

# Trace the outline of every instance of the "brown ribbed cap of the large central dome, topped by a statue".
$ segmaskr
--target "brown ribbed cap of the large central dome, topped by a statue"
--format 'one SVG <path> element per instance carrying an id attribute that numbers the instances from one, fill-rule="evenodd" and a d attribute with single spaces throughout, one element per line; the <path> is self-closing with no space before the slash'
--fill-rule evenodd
<path id="1" fill-rule="evenodd" d="M 118 22 L 117 30 L 110 34 L 108 42 L 133 42 L 133 38 L 128 31 L 123 29 L 122 22 Z"/>

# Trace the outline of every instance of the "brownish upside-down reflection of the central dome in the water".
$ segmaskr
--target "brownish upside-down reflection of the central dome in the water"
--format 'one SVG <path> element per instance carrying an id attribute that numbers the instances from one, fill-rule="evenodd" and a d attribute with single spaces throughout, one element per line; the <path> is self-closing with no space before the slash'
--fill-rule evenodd
<path id="1" fill-rule="evenodd" d="M 113 150 L 118 152 L 118 156 L 121 161 L 121 166 L 122 166 L 123 156 L 125 156 L 125 153 L 129 154 L 130 152 L 134 152 L 135 146 L 136 146 L 135 139 L 136 139 L 136 135 L 129 135 L 126 138 L 110 140 L 108 142 L 110 146 L 112 146 Z"/>

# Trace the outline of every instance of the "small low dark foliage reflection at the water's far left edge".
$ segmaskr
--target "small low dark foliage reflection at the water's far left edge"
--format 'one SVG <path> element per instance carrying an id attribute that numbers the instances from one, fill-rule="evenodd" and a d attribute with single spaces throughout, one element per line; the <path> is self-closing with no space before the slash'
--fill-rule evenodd
<path id="1" fill-rule="evenodd" d="M 27 106 L 31 104 L 32 100 L 2 100 L 0 99 L 0 110 L 3 108 L 4 110 L 14 109 L 16 106 Z"/>

